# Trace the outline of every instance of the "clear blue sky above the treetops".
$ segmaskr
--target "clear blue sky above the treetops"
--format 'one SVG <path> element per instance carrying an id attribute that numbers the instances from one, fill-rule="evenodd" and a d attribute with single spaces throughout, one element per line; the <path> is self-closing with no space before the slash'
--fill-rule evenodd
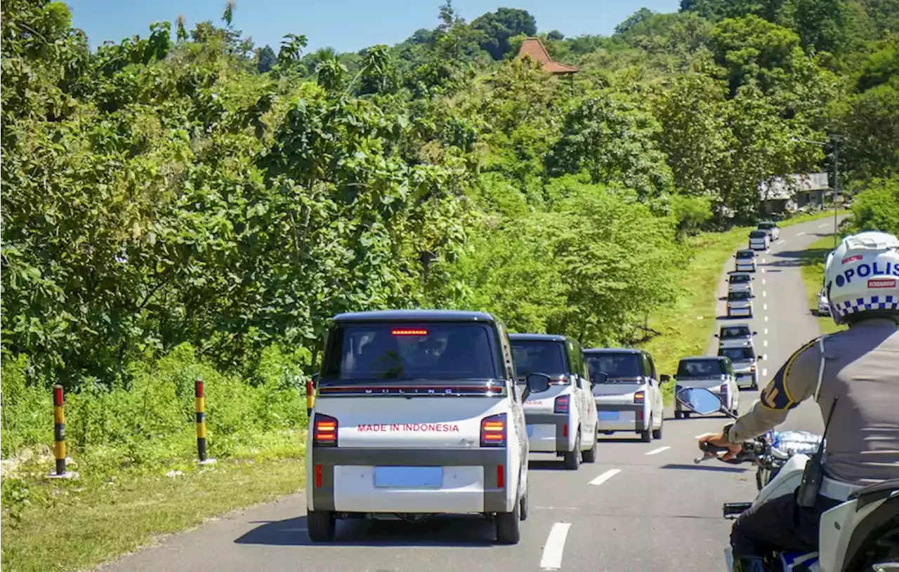
<path id="1" fill-rule="evenodd" d="M 257 46 L 278 50 L 287 33 L 306 34 L 309 50 L 331 46 L 357 51 L 374 44 L 395 44 L 419 28 L 437 25 L 443 0 L 236 0 L 234 25 Z M 196 22 L 219 22 L 225 0 L 67 0 L 76 28 L 84 30 L 91 46 L 103 40 L 119 42 L 132 34 L 147 37 L 151 22 L 173 22 L 184 15 L 188 29 Z M 680 0 L 455 0 L 453 5 L 470 21 L 500 6 L 527 10 L 539 31 L 556 29 L 566 36 L 610 34 L 619 22 L 641 7 L 675 12 Z"/>

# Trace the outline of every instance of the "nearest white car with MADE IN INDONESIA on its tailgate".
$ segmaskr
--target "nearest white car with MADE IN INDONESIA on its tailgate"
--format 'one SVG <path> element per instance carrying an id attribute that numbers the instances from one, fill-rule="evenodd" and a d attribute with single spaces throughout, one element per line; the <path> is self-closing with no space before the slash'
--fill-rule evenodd
<path id="1" fill-rule="evenodd" d="M 333 541 L 339 519 L 446 514 L 483 515 L 495 522 L 497 541 L 520 540 L 526 392 L 500 321 L 481 312 L 340 314 L 316 384 L 310 540 Z"/>

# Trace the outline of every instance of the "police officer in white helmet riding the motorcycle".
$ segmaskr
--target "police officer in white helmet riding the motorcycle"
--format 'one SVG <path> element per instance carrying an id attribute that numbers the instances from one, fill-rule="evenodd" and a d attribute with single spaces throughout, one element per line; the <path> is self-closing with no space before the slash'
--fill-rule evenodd
<path id="1" fill-rule="evenodd" d="M 800 506 L 793 493 L 740 515 L 731 532 L 735 572 L 763 572 L 779 551 L 817 550 L 825 511 L 859 488 L 899 479 L 897 280 L 899 239 L 886 233 L 845 238 L 827 260 L 824 287 L 833 321 L 849 330 L 806 343 L 748 413 L 720 434 L 699 437 L 700 443 L 726 447 L 728 460 L 740 453 L 741 443 L 778 426 L 804 400 L 814 398 L 823 418 L 830 418 L 814 506 Z"/>

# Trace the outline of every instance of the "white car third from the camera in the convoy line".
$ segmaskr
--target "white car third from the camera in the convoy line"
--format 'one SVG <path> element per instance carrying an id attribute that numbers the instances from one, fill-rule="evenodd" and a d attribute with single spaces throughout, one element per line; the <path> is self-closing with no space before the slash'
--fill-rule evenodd
<path id="1" fill-rule="evenodd" d="M 636 433 L 644 443 L 662 438 L 665 419 L 661 383 L 653 356 L 641 349 L 591 348 L 583 351 L 592 375 L 600 431 Z"/>

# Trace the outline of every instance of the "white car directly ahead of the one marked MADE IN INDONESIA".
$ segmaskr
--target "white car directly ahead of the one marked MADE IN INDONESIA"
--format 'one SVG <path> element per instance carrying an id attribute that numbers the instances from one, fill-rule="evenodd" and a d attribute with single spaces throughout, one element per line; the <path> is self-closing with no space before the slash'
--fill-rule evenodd
<path id="1" fill-rule="evenodd" d="M 556 453 L 571 470 L 582 459 L 596 462 L 596 404 L 581 344 L 552 334 L 510 334 L 509 341 L 520 382 L 529 374 L 549 378 L 547 391 L 524 403 L 530 452 Z"/>

